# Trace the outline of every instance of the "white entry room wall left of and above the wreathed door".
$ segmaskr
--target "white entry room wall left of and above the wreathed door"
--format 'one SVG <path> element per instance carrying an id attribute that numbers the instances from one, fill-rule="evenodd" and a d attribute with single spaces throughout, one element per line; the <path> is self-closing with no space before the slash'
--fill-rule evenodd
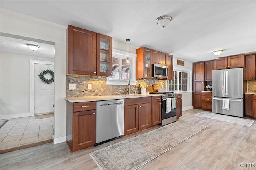
<path id="1" fill-rule="evenodd" d="M 1 53 L 1 117 L 30 116 L 30 59 L 43 57 Z M 54 61 L 48 58 L 47 61 Z"/>

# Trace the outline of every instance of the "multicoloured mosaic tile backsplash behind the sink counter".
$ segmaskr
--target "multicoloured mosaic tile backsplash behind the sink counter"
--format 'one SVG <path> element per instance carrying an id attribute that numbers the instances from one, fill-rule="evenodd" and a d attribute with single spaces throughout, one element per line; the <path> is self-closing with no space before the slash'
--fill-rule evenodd
<path id="1" fill-rule="evenodd" d="M 75 83 L 76 90 L 68 90 L 68 84 Z M 92 90 L 88 90 L 88 84 L 92 84 Z M 137 80 L 137 84 L 130 85 L 131 94 L 140 93 L 139 84 L 159 84 L 165 86 L 164 80 L 145 79 Z M 118 95 L 128 94 L 128 85 L 107 85 L 106 77 L 90 77 L 90 76 L 66 76 L 66 97 L 80 97 L 80 96 L 104 96 L 104 95 Z"/>

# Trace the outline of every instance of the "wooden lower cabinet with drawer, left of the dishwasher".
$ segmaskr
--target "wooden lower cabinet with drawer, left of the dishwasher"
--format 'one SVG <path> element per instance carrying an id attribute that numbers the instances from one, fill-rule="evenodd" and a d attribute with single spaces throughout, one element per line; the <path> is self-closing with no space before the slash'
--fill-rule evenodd
<path id="1" fill-rule="evenodd" d="M 71 152 L 96 142 L 96 102 L 67 102 L 66 141 Z"/>

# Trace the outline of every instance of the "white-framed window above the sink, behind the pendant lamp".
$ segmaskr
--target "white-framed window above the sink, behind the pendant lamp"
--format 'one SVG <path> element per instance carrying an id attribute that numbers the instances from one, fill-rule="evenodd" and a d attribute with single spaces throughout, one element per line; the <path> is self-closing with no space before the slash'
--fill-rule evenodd
<path id="1" fill-rule="evenodd" d="M 130 66 L 126 65 L 127 52 L 113 49 L 112 76 L 107 77 L 108 85 L 136 85 L 136 54 L 129 53 Z"/>

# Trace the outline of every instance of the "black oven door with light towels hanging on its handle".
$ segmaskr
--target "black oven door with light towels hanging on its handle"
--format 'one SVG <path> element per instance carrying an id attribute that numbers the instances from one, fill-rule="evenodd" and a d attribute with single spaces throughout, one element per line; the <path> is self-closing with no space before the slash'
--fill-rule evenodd
<path id="1" fill-rule="evenodd" d="M 162 99 L 162 120 L 163 119 L 168 119 L 169 117 L 174 117 L 176 116 L 176 97 L 173 98 L 168 98 L 170 100 L 167 100 L 167 98 Z M 174 104 L 169 102 L 174 102 Z M 169 109 L 167 108 L 169 106 Z M 166 111 L 166 110 L 171 110 L 171 111 Z"/>

